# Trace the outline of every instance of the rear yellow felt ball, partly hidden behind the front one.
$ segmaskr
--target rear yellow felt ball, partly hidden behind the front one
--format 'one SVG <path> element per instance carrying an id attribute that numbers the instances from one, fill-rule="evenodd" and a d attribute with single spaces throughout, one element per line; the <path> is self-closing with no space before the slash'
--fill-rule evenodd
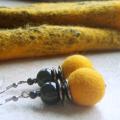
<path id="1" fill-rule="evenodd" d="M 64 60 L 61 67 L 64 77 L 67 78 L 76 69 L 83 67 L 92 68 L 93 65 L 92 62 L 83 55 L 72 55 Z"/>

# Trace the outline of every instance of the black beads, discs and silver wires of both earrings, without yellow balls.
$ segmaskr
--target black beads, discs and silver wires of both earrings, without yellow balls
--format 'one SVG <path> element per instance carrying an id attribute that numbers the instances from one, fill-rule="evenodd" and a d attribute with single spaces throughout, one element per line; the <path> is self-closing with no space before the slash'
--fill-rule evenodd
<path id="1" fill-rule="evenodd" d="M 35 79 L 28 78 L 27 81 L 19 81 L 6 87 L 0 94 L 8 91 L 11 88 L 17 88 L 19 85 L 27 83 L 28 85 L 38 84 L 40 89 L 38 91 L 26 92 L 23 91 L 20 96 L 12 96 L 6 99 L 0 105 L 3 105 L 9 101 L 18 101 L 20 98 L 32 98 L 41 97 L 41 100 L 46 104 L 63 103 L 65 97 L 71 100 L 71 96 L 68 89 L 67 80 L 64 79 L 61 67 L 58 70 L 55 69 L 42 69 L 38 72 Z"/>

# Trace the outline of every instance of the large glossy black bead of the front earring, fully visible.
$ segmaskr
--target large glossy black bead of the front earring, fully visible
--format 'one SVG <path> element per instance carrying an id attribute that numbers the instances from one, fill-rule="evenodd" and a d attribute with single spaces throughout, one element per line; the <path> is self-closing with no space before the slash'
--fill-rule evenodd
<path id="1" fill-rule="evenodd" d="M 41 99 L 44 103 L 53 105 L 60 101 L 59 91 L 55 82 L 45 83 L 40 90 Z"/>

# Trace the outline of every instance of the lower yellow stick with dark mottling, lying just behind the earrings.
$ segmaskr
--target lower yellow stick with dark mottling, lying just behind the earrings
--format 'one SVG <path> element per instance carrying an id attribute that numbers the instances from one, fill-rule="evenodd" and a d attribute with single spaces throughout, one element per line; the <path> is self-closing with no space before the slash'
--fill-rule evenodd
<path id="1" fill-rule="evenodd" d="M 120 50 L 120 31 L 41 25 L 0 30 L 0 60 Z"/>

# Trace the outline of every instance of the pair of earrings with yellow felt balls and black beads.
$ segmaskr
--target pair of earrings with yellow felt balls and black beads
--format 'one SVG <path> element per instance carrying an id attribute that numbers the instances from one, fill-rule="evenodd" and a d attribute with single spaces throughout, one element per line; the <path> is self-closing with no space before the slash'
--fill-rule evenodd
<path id="1" fill-rule="evenodd" d="M 45 104 L 63 103 L 67 98 L 78 105 L 91 106 L 104 96 L 105 82 L 102 75 L 93 69 L 91 61 L 82 55 L 66 58 L 58 69 L 42 69 L 35 79 L 19 81 L 6 87 L 0 94 L 20 84 L 38 84 L 37 91 L 24 91 L 20 96 L 12 96 L 4 101 L 18 101 L 19 98 L 40 97 Z M 4 103 L 1 103 L 3 105 Z"/>

